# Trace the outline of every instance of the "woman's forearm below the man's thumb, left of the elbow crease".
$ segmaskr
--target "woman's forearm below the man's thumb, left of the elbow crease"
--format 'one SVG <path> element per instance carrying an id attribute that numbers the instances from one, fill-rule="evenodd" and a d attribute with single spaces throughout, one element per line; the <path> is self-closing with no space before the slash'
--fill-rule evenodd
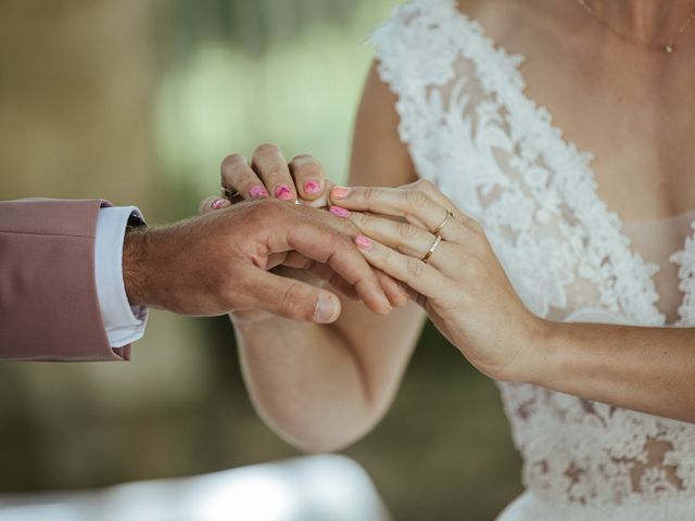
<path id="1" fill-rule="evenodd" d="M 336 328 L 281 318 L 236 325 L 256 410 L 286 441 L 308 452 L 353 442 L 372 416 L 359 361 Z"/>

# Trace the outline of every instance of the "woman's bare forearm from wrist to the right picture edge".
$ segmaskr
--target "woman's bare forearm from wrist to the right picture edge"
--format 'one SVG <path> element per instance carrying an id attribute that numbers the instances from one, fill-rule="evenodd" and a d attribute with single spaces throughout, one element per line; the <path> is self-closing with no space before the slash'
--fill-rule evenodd
<path id="1" fill-rule="evenodd" d="M 695 422 L 695 329 L 547 322 L 532 383 Z"/>

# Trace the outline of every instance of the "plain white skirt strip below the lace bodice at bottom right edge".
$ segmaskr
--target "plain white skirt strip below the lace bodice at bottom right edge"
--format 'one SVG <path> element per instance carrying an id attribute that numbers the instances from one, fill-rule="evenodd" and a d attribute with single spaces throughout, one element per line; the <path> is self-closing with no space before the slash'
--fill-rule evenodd
<path id="1" fill-rule="evenodd" d="M 688 521 L 695 520 L 695 499 L 665 499 L 660 503 L 629 503 L 620 506 L 583 507 L 544 501 L 525 492 L 497 517 L 496 521 Z"/>

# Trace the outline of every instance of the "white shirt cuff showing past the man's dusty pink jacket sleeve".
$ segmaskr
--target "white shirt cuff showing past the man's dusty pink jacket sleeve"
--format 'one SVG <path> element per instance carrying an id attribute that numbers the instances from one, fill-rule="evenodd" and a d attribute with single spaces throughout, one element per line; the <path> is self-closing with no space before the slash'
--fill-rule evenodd
<path id="1" fill-rule="evenodd" d="M 140 340 L 148 321 L 148 308 L 130 306 L 123 282 L 123 243 L 132 214 L 142 218 L 135 206 L 101 208 L 97 220 L 97 295 L 109 343 L 114 348 Z"/>

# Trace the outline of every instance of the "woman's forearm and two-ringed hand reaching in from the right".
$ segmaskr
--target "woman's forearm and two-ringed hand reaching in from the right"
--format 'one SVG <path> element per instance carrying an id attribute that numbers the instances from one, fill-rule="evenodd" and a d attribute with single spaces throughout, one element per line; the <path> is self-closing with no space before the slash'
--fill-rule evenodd
<path id="1" fill-rule="evenodd" d="M 350 208 L 368 236 L 355 242 L 369 263 L 418 292 L 440 331 L 485 374 L 695 422 L 695 328 L 568 323 L 533 315 L 483 229 L 427 181 L 353 187 L 331 192 L 331 200 Z M 405 216 L 410 228 L 404 233 L 377 214 Z M 435 251 L 424 263 L 428 247 Z"/>

